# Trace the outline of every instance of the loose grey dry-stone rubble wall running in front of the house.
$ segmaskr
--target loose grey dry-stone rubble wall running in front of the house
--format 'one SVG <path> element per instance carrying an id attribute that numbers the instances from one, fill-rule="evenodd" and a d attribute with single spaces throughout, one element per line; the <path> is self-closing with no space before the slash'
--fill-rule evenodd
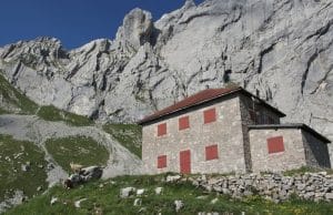
<path id="1" fill-rule="evenodd" d="M 326 172 L 284 176 L 276 173 L 181 178 L 209 192 L 218 192 L 234 198 L 260 195 L 276 203 L 296 195 L 310 201 L 333 201 L 333 175 Z"/>

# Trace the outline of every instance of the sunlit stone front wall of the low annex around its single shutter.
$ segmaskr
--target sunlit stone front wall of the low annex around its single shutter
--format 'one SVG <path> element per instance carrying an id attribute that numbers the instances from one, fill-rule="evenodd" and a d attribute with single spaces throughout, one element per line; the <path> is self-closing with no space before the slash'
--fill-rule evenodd
<path id="1" fill-rule="evenodd" d="M 306 165 L 303 135 L 300 129 L 251 129 L 252 171 L 286 171 Z M 269 154 L 266 140 L 283 136 L 284 152 Z"/>

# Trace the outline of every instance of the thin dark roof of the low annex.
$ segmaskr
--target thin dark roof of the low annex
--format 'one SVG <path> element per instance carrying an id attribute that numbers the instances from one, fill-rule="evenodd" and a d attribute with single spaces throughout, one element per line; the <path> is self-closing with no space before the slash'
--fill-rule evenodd
<path id="1" fill-rule="evenodd" d="M 322 134 L 317 133 L 316 131 L 314 131 L 306 124 L 302 124 L 302 123 L 249 125 L 249 130 L 264 130 L 264 129 L 302 129 L 302 130 L 313 134 L 314 136 L 316 136 L 324 143 L 331 143 L 331 141 L 329 139 L 326 139 Z"/>

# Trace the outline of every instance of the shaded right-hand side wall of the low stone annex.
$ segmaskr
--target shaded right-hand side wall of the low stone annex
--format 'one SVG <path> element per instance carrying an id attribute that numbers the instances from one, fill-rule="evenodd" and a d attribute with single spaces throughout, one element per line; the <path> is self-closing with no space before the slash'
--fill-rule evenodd
<path id="1" fill-rule="evenodd" d="M 306 164 L 313 167 L 331 167 L 327 144 L 313 136 L 306 131 L 302 131 L 305 149 Z"/>

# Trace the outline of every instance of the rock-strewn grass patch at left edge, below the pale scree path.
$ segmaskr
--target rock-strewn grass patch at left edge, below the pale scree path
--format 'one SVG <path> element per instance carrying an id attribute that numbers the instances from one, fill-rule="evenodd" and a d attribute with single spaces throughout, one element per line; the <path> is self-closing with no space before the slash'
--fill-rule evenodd
<path id="1" fill-rule="evenodd" d="M 27 162 L 31 168 L 23 172 L 21 165 Z M 46 165 L 44 153 L 37 145 L 0 134 L 0 202 L 6 194 L 11 197 L 16 190 L 32 196 L 40 193 L 38 186 L 46 188 Z"/>

